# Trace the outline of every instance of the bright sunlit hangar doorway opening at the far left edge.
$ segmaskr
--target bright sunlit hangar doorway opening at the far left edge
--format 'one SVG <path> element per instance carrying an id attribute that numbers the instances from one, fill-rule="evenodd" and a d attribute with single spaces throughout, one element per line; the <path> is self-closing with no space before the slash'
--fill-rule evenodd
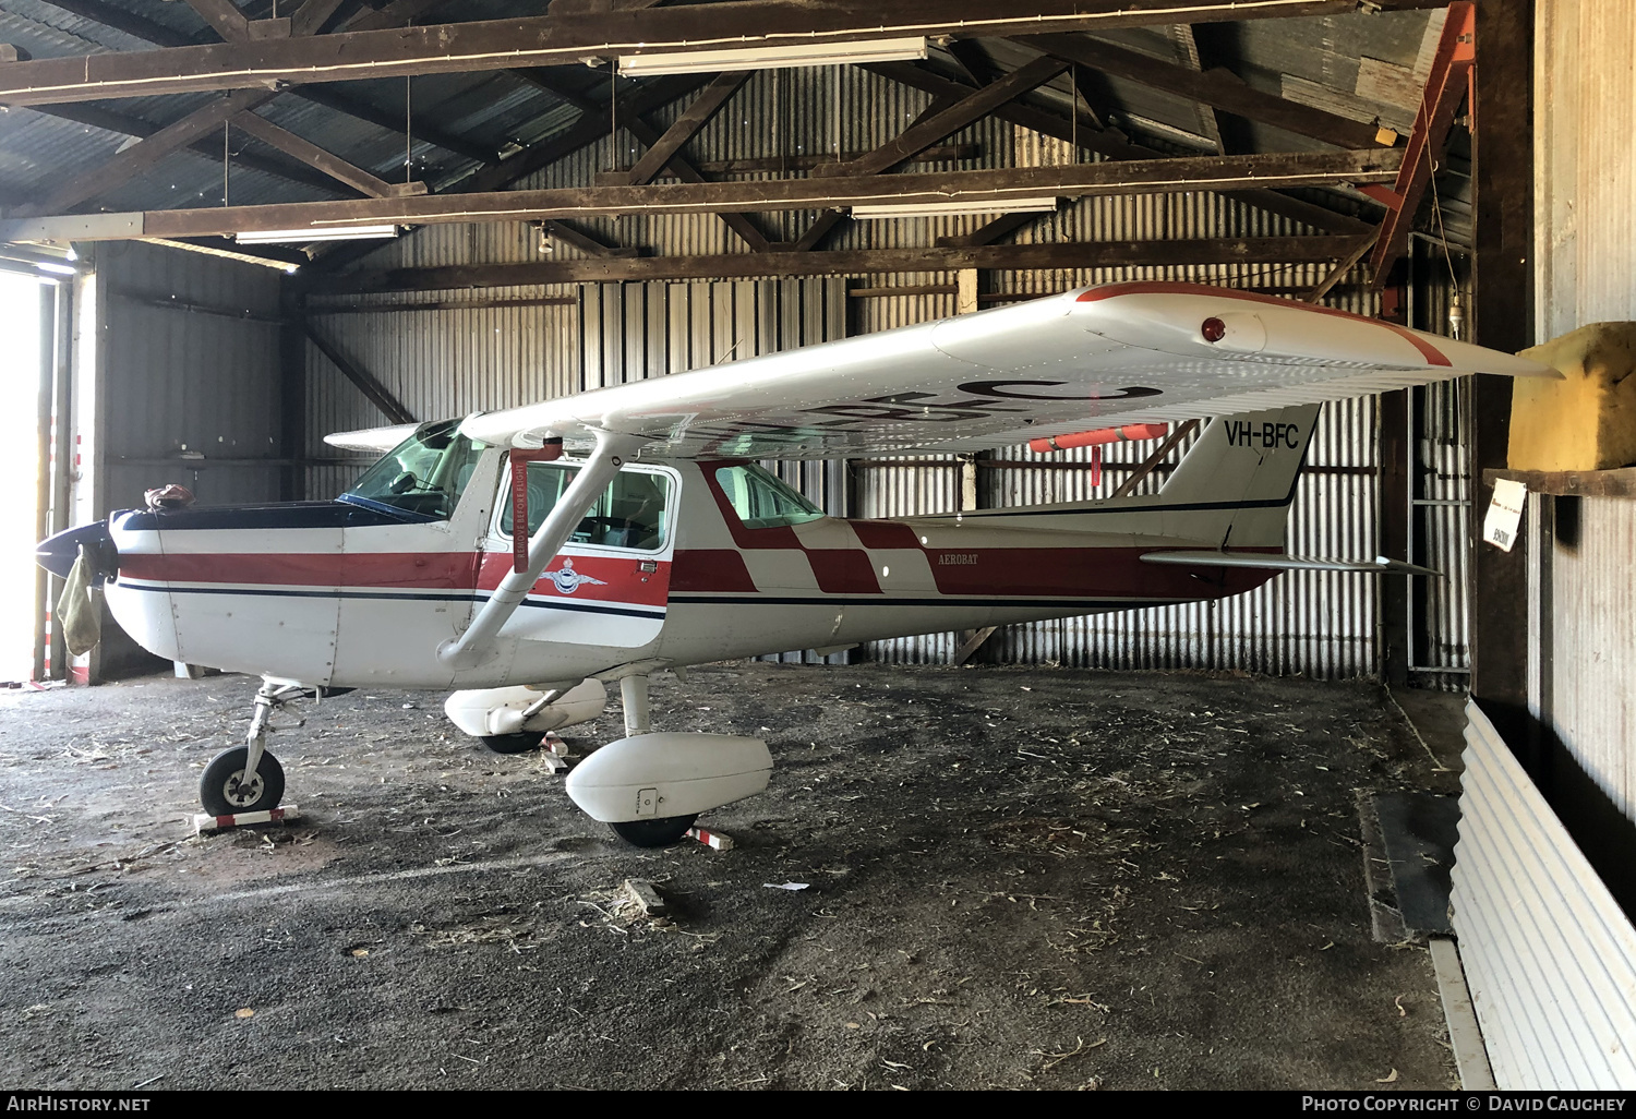
<path id="1" fill-rule="evenodd" d="M 52 288 L 34 276 L 0 273 L 0 478 L 10 499 L 0 517 L 0 682 L 34 679 L 34 532 L 39 524 L 39 334 Z M 47 398 L 49 399 L 49 398 Z"/>

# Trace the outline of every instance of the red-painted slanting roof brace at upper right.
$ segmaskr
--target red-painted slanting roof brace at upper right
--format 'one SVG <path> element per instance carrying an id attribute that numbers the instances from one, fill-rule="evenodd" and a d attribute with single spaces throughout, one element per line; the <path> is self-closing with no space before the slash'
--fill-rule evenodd
<path id="1" fill-rule="evenodd" d="M 1371 191 L 1373 196 L 1386 203 L 1381 239 L 1369 260 L 1374 267 L 1376 286 L 1386 283 L 1392 263 L 1409 247 L 1409 231 L 1414 229 L 1425 190 L 1432 183 L 1432 164 L 1443 155 L 1448 131 L 1454 124 L 1454 110 L 1466 97 L 1467 75 L 1477 57 L 1476 16 L 1476 5 L 1469 0 L 1456 0 L 1448 7 L 1448 20 L 1443 23 L 1443 34 L 1438 38 L 1425 92 L 1420 95 L 1420 108 L 1415 113 L 1415 126 L 1409 133 L 1409 146 L 1404 149 L 1404 165 L 1397 172 L 1397 182 L 1392 183 L 1387 196 Z"/>

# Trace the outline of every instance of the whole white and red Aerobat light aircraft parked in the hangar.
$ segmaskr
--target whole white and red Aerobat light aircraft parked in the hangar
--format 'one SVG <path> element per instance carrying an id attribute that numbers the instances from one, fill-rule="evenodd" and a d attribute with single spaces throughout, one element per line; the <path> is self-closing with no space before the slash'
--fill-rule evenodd
<path id="1" fill-rule="evenodd" d="M 638 844 L 761 792 L 766 744 L 653 733 L 651 672 L 1240 594 L 1292 568 L 1284 522 L 1324 401 L 1505 353 L 1245 291 L 1124 283 L 499 412 L 330 437 L 386 452 L 334 501 L 126 510 L 41 545 L 175 661 L 258 674 L 216 815 L 267 810 L 288 699 L 453 689 L 502 753 L 602 712 L 627 736 L 568 792 Z M 970 453 L 1214 417 L 1158 494 L 888 520 L 826 517 L 767 460 Z M 1147 437 L 1152 429 L 1137 430 Z M 1101 438 L 1096 435 L 1093 438 Z"/>

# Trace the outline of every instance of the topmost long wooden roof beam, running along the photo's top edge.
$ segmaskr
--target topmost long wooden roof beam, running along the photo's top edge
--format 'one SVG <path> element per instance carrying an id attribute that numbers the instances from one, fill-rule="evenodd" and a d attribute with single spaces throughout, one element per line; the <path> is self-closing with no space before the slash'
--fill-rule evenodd
<path id="1" fill-rule="evenodd" d="M 1386 8 L 1430 8 L 1446 0 L 1379 0 Z M 1112 29 L 1137 25 L 1351 13 L 1356 0 L 1034 0 L 1009 15 L 988 0 L 919 0 L 892 10 L 893 36 L 1018 36 Z M 0 103 L 52 105 L 110 97 L 200 93 L 273 83 L 353 82 L 412 74 L 470 74 L 515 65 L 571 65 L 584 57 L 656 51 L 702 51 L 723 39 L 735 47 L 787 43 L 846 44 L 880 39 L 879 0 L 733 0 L 641 11 L 543 15 L 443 23 L 380 31 L 342 31 L 118 51 L 15 62 L 0 70 Z"/>

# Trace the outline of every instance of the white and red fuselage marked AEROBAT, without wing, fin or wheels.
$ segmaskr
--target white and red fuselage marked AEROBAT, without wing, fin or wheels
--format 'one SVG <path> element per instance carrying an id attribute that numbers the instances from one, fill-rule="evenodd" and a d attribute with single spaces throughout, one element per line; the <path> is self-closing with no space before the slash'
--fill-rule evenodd
<path id="1" fill-rule="evenodd" d="M 438 645 L 512 561 L 504 460 L 483 452 L 447 519 L 348 501 L 116 514 L 108 605 L 177 661 L 309 685 L 474 689 L 1212 599 L 1273 574 L 1142 563 L 1219 543 L 1155 497 L 782 524 L 744 515 L 739 463 L 633 465 L 646 492 L 663 491 L 663 517 L 646 514 L 661 530 L 636 540 L 587 519 L 486 659 L 455 669 Z"/>

